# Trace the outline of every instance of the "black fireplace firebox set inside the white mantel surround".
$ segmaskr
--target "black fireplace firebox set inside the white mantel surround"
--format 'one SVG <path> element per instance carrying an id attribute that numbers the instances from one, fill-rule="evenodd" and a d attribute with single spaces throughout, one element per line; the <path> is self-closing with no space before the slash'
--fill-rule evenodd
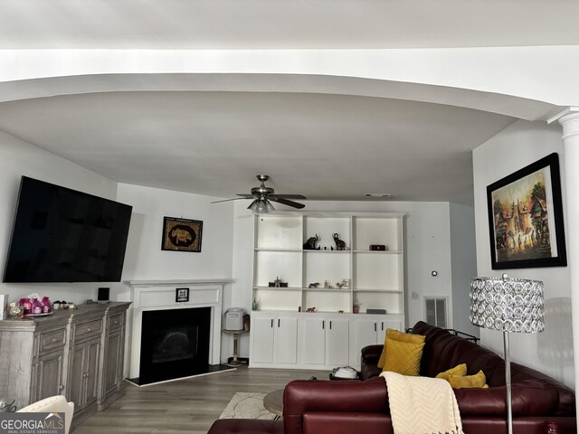
<path id="1" fill-rule="evenodd" d="M 211 307 L 143 312 L 139 383 L 206 373 Z"/>

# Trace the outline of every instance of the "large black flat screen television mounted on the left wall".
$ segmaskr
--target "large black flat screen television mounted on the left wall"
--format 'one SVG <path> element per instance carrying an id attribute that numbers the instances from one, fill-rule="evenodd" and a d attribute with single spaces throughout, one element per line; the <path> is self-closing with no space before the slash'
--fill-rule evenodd
<path id="1" fill-rule="evenodd" d="M 22 177 L 5 282 L 118 282 L 132 206 Z"/>

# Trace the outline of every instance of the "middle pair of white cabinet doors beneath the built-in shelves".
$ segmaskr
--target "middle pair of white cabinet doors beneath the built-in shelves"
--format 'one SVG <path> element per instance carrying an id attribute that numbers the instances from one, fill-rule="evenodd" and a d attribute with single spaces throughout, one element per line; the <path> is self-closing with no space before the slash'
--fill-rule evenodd
<path id="1" fill-rule="evenodd" d="M 303 363 L 308 365 L 344 366 L 348 363 L 349 321 L 347 319 L 303 319 Z M 321 366 L 320 366 L 321 367 Z"/>

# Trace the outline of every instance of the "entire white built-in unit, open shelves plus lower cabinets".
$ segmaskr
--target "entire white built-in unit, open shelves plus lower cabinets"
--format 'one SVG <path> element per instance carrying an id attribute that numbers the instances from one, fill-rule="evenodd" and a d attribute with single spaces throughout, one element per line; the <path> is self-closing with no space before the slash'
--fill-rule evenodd
<path id="1" fill-rule="evenodd" d="M 403 330 L 403 216 L 400 212 L 256 216 L 252 297 L 258 310 L 252 312 L 250 366 L 359 367 L 365 345 L 383 343 L 387 327 Z M 310 237 L 318 237 L 316 250 L 303 248 Z M 337 250 L 335 238 L 345 249 Z M 359 314 L 354 313 L 355 306 Z M 308 308 L 316 313 L 306 313 Z M 387 315 L 366 315 L 368 309 Z"/>

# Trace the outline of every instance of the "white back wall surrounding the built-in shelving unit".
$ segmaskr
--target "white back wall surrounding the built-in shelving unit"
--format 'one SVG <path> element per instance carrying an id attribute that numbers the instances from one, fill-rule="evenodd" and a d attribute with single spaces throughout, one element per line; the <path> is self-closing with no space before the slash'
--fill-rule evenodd
<path id="1" fill-rule="evenodd" d="M 238 201 L 234 206 L 233 305 L 249 311 L 252 302 L 253 215 L 246 209 L 246 201 Z M 452 307 L 449 203 L 306 201 L 303 211 L 406 212 L 404 279 L 409 295 L 406 325 L 424 319 L 424 296 L 449 297 L 449 307 Z M 474 268 L 474 259 L 471 267 Z M 432 270 L 438 271 L 438 277 L 432 277 Z M 416 299 L 410 297 L 413 292 Z M 464 315 L 468 316 L 468 310 Z M 242 336 L 240 354 L 249 354 L 248 336 Z"/>

